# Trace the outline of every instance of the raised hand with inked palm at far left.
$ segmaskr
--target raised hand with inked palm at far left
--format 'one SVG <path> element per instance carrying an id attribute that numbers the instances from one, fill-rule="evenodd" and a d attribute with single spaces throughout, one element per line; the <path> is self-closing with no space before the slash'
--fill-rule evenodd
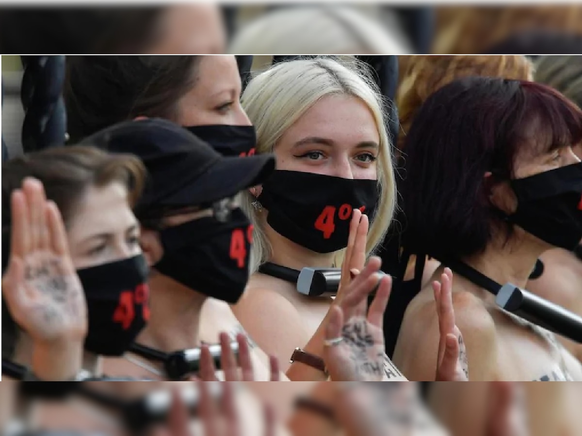
<path id="1" fill-rule="evenodd" d="M 11 201 L 3 297 L 13 319 L 33 341 L 35 375 L 62 380 L 80 369 L 87 334 L 83 287 L 70 259 L 61 214 L 45 198 L 42 184 L 27 178 Z"/>

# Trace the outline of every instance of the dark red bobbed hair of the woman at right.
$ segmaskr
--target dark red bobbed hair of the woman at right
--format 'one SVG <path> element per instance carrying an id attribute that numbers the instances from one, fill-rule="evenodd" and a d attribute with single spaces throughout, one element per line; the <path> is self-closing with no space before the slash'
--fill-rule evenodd
<path id="1" fill-rule="evenodd" d="M 421 106 L 410 128 L 401 184 L 404 244 L 418 253 L 464 258 L 485 249 L 491 183 L 516 162 L 577 144 L 582 111 L 545 85 L 501 78 L 453 81 Z"/>

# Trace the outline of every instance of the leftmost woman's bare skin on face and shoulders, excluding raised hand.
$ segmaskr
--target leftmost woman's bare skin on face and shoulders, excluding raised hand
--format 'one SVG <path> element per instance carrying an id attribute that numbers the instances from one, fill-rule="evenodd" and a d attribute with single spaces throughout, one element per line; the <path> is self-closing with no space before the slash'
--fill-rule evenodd
<path id="1" fill-rule="evenodd" d="M 138 238 L 139 228 L 129 206 L 127 189 L 116 182 L 88 187 L 66 228 L 66 251 L 72 270 L 135 256 L 141 253 Z M 32 352 L 30 337 L 23 334 L 15 360 L 30 362 L 34 358 Z M 83 352 L 83 368 L 100 374 L 100 358 Z"/>

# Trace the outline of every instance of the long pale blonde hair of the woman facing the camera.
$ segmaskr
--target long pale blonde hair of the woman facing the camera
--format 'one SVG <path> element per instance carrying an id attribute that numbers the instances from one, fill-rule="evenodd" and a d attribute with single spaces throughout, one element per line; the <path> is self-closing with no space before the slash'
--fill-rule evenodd
<path id="1" fill-rule="evenodd" d="M 396 186 L 384 102 L 367 67 L 355 59 L 339 62 L 330 58 L 315 58 L 279 63 L 250 81 L 243 93 L 242 105 L 257 130 L 257 153 L 268 153 L 274 150 L 289 127 L 328 95 L 350 95 L 361 99 L 370 109 L 378 128 L 378 188 L 381 197 L 368 234 L 366 248 L 369 255 L 383 240 L 391 223 Z M 251 273 L 272 253 L 257 210 L 251 204 L 254 201 L 249 192 L 244 194 L 243 209 L 254 224 Z M 336 252 L 335 265 L 340 265 L 344 252 Z"/>

